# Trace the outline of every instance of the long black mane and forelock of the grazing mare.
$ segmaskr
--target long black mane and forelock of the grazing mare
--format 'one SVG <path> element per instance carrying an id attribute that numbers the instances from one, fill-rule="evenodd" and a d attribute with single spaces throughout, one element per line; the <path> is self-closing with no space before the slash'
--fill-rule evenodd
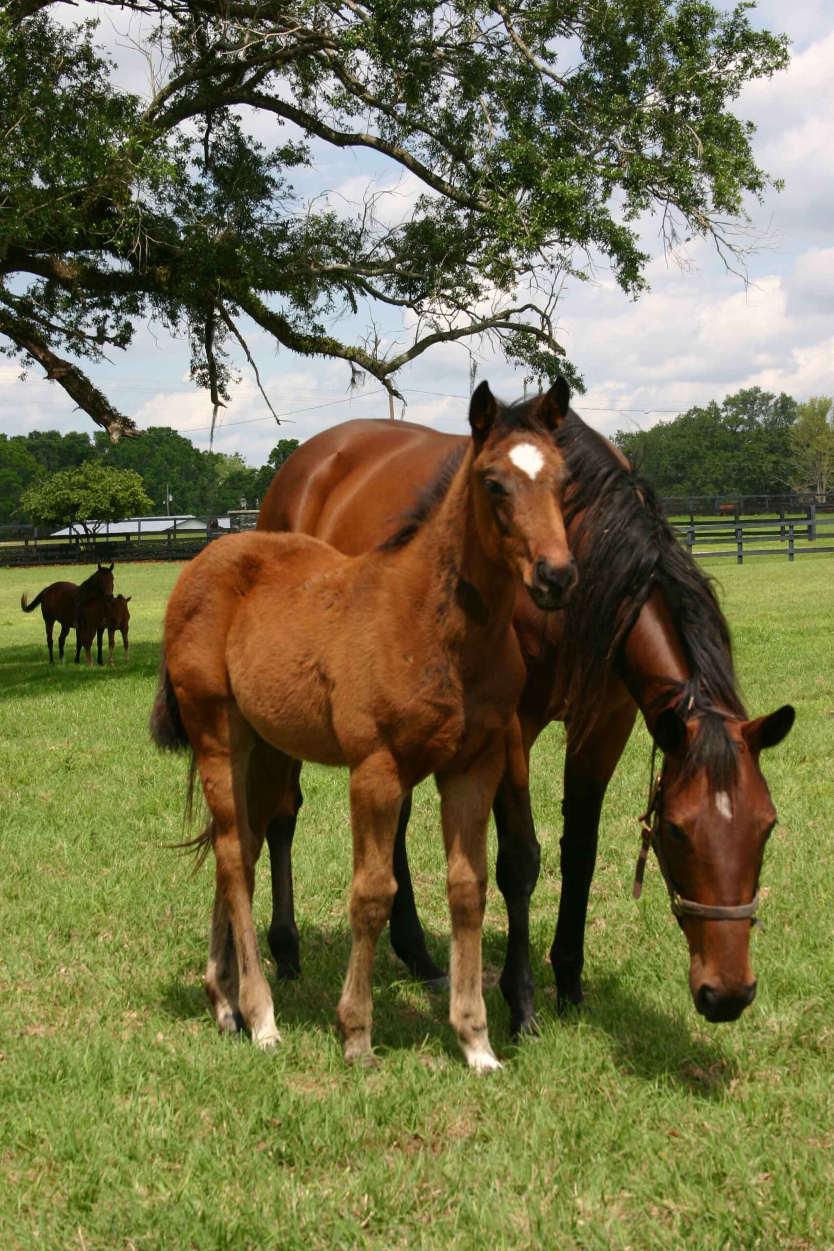
<path id="1" fill-rule="evenodd" d="M 700 731 L 686 767 L 705 767 L 724 788 L 735 768 L 723 709 L 744 716 L 726 622 L 713 580 L 678 542 L 654 488 L 625 468 L 609 444 L 573 410 L 556 434 L 569 473 L 565 522 L 583 513 L 571 548 L 579 582 L 566 609 L 570 647 L 568 699 L 571 744 L 588 734 L 620 646 L 654 590 L 669 608 L 691 672 L 686 683 L 670 679 L 660 696 Z"/>

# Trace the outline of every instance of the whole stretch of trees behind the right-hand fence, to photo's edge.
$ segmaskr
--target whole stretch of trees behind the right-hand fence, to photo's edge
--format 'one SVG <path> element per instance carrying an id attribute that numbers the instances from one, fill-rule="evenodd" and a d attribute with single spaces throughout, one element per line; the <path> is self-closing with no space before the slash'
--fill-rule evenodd
<path id="1" fill-rule="evenodd" d="M 614 442 L 661 495 L 783 495 L 834 488 L 834 408 L 749 387 Z"/>

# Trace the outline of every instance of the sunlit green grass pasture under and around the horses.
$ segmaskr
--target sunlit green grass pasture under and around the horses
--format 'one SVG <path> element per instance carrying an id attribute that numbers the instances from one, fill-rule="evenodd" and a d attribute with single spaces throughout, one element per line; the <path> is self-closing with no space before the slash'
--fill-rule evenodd
<path id="1" fill-rule="evenodd" d="M 703 1022 L 654 862 L 631 899 L 649 768 L 640 728 L 603 816 L 589 1010 L 556 1020 L 545 956 L 564 738 L 553 727 L 533 769 L 543 1036 L 510 1045 L 496 986 L 505 919 L 490 886 L 485 981 L 505 1068 L 489 1078 L 464 1068 L 448 997 L 413 985 L 386 938 L 381 1065 L 343 1066 L 334 1023 L 351 852 L 346 778 L 324 769 L 305 774 L 304 977 L 275 990 L 284 1043 L 261 1055 L 219 1036 L 201 986 L 210 866 L 194 876 L 164 846 L 181 836 L 185 763 L 148 738 L 178 568 L 116 567 L 116 592 L 134 597 L 133 663 L 119 641 L 116 668 L 93 672 L 50 669 L 40 614 L 20 612 L 21 590 L 59 574 L 0 572 L 0 1247 L 834 1246 L 834 560 L 713 569 L 750 713 L 786 701 L 799 711 L 765 762 L 779 827 L 763 874 L 768 932 L 751 938 L 758 998 L 735 1025 Z M 445 961 L 428 784 L 410 846 Z M 255 906 L 266 957 L 265 864 Z"/>

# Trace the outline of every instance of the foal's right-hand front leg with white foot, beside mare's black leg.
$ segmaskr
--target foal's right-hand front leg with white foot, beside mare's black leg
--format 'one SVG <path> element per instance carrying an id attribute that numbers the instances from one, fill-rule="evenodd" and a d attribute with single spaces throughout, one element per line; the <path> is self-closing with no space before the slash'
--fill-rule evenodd
<path id="1" fill-rule="evenodd" d="M 486 823 L 504 759 L 504 738 L 499 734 L 468 769 L 438 776 L 451 912 L 449 1020 L 466 1063 L 481 1071 L 501 1067 L 486 1028 L 481 929 L 486 907 Z"/>

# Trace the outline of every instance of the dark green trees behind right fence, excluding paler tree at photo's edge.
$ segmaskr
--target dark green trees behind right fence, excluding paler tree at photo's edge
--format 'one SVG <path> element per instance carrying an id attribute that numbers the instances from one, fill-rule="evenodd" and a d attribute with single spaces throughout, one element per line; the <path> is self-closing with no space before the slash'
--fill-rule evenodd
<path id="1" fill-rule="evenodd" d="M 796 402 L 750 387 L 614 442 L 661 495 L 759 495 L 790 489 Z"/>

